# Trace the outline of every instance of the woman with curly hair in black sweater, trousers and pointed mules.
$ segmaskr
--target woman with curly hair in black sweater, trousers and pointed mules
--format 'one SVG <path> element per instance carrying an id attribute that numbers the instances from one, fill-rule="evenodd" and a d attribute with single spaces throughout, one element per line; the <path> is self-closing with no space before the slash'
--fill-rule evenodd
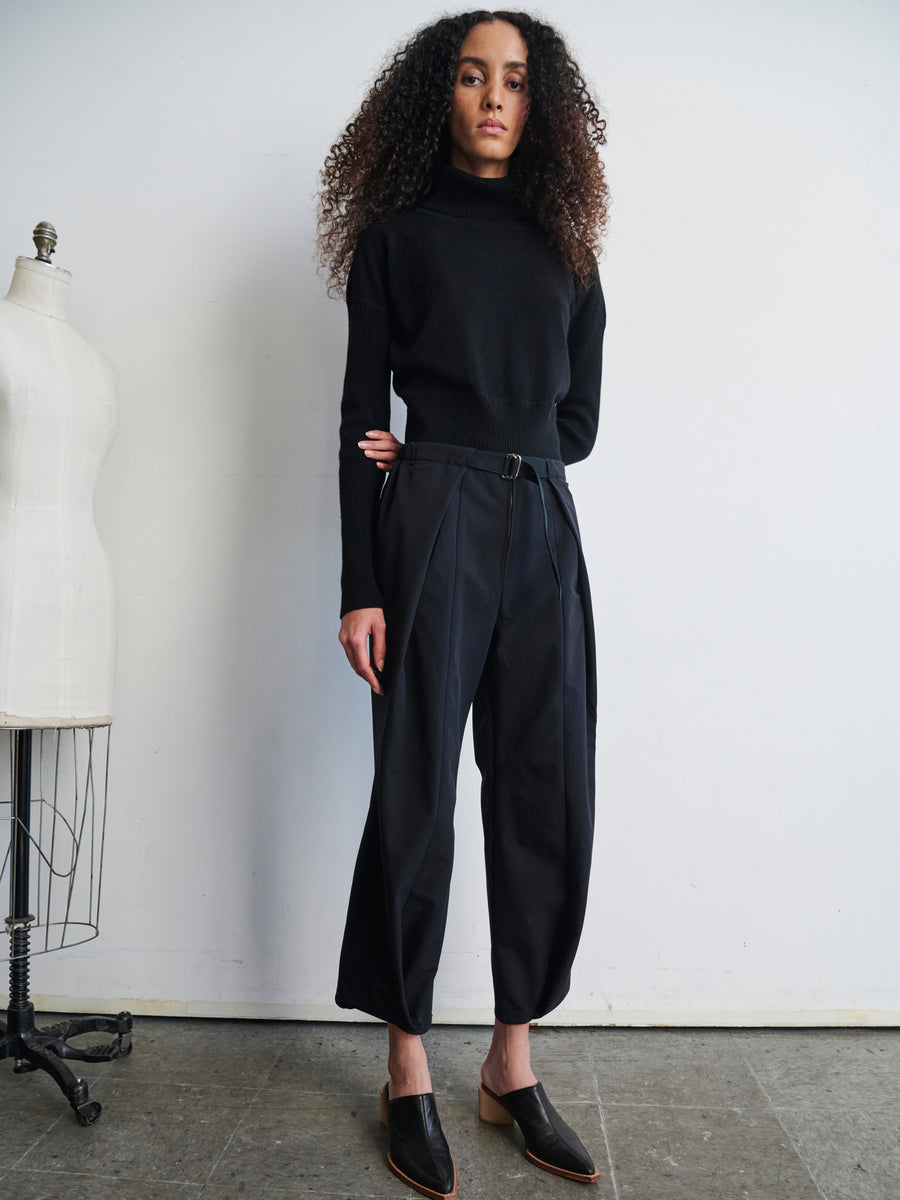
<path id="1" fill-rule="evenodd" d="M 337 1003 L 389 1025 L 388 1162 L 432 1198 L 456 1195 L 456 1169 L 420 1036 L 473 704 L 497 1015 L 479 1114 L 517 1121 L 538 1166 L 599 1178 L 532 1073 L 528 1025 L 568 991 L 593 834 L 593 625 L 563 463 L 596 433 L 604 125 L 554 30 L 464 13 L 394 56 L 323 173 L 322 257 L 349 311 L 340 640 L 376 744 Z"/>

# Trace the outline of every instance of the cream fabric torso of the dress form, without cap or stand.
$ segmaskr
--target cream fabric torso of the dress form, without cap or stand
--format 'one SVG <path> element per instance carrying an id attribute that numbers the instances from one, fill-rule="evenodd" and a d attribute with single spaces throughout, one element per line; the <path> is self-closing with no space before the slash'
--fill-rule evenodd
<path id="1" fill-rule="evenodd" d="M 92 516 L 115 373 L 66 319 L 68 271 L 17 258 L 0 301 L 0 726 L 108 725 L 115 596 Z"/>

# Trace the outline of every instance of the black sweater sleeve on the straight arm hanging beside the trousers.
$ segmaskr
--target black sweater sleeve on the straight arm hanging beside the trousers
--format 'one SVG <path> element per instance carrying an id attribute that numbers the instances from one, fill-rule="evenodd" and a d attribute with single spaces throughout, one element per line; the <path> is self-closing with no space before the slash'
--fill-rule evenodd
<path id="1" fill-rule="evenodd" d="M 383 607 L 373 530 L 384 474 L 360 450 L 368 430 L 390 427 L 390 328 L 384 262 L 372 228 L 360 235 L 347 283 L 347 368 L 341 400 L 341 616 Z"/>

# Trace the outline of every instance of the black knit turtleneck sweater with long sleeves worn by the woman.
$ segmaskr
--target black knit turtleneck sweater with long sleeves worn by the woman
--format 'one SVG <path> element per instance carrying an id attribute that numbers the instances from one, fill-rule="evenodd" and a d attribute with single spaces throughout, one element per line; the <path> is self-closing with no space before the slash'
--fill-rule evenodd
<path id="1" fill-rule="evenodd" d="M 408 442 L 577 462 L 596 437 L 606 324 L 599 281 L 576 284 L 514 179 L 455 167 L 362 232 L 347 305 L 341 616 L 383 607 L 372 529 L 384 473 L 356 443 L 389 428 L 391 374 Z"/>

